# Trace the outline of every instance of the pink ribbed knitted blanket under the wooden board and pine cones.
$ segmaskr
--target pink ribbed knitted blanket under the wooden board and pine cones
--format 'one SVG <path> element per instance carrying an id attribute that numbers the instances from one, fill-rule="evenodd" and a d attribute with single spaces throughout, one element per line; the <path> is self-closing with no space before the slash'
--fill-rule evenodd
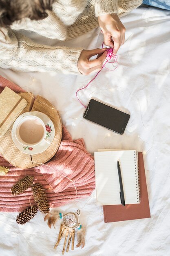
<path id="1" fill-rule="evenodd" d="M 23 91 L 18 85 L 0 76 L 0 92 L 5 86 L 15 92 Z M 0 157 L 0 166 L 9 167 L 9 173 L 0 176 L 0 211 L 22 211 L 35 205 L 31 189 L 17 196 L 11 195 L 11 186 L 25 175 L 32 175 L 33 183 L 42 184 L 50 207 L 59 207 L 76 198 L 84 198 L 95 189 L 93 156 L 86 151 L 84 140 L 73 141 L 64 126 L 60 147 L 45 165 L 22 170 Z"/>

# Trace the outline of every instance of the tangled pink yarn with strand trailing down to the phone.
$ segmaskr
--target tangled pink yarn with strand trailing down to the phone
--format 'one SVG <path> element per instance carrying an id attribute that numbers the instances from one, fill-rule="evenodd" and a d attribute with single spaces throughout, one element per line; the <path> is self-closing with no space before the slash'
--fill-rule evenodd
<path id="1" fill-rule="evenodd" d="M 102 48 L 103 48 L 103 46 L 104 46 L 104 43 L 102 44 Z M 79 100 L 79 98 L 78 98 L 78 96 L 77 96 L 77 93 L 78 93 L 79 91 L 84 90 L 85 88 L 88 87 L 88 85 L 89 85 L 89 84 L 97 77 L 97 75 L 102 71 L 102 69 L 105 67 L 106 63 L 116 63 L 116 62 L 117 62 L 118 56 L 113 53 L 113 48 L 108 48 L 108 49 L 106 49 L 106 51 L 107 51 L 106 61 L 105 61 L 105 63 L 103 64 L 101 70 L 99 70 L 99 71 L 97 72 L 97 74 L 95 75 L 95 77 L 94 77 L 85 87 L 83 87 L 83 88 L 81 88 L 81 89 L 78 89 L 78 90 L 76 91 L 76 93 L 75 93 L 75 95 L 76 95 L 78 101 L 79 101 L 85 108 L 87 108 L 87 106 L 85 106 L 85 105 L 82 103 L 82 101 Z M 110 61 L 111 59 L 113 59 L 113 61 Z M 105 67 L 105 68 L 106 68 L 107 70 L 109 70 L 109 71 L 114 71 L 117 67 L 115 67 L 114 70 L 110 70 L 110 69 L 108 69 L 107 67 Z"/>

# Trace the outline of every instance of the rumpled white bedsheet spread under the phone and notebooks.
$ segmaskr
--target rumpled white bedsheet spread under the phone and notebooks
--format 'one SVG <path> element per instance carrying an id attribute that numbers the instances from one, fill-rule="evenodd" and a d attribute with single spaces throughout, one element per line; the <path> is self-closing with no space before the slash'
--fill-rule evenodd
<path id="1" fill-rule="evenodd" d="M 125 44 L 118 52 L 119 66 L 103 69 L 79 98 L 88 103 L 96 97 L 130 113 L 125 135 L 117 135 L 82 118 L 84 107 L 75 92 L 93 78 L 0 69 L 0 75 L 25 90 L 50 100 L 74 139 L 83 137 L 86 148 L 137 149 L 144 152 L 151 218 L 105 224 L 102 208 L 90 198 L 61 207 L 80 209 L 86 227 L 86 246 L 70 256 L 168 256 L 170 255 L 170 11 L 139 8 L 121 18 L 126 27 Z M 95 29 L 66 45 L 99 47 L 102 34 Z M 52 41 L 53 45 L 56 43 Z M 0 255 L 57 256 L 63 243 L 53 249 L 59 224 L 49 229 L 38 213 L 26 225 L 15 221 L 17 213 L 0 213 Z M 67 255 L 67 253 L 65 253 Z"/>

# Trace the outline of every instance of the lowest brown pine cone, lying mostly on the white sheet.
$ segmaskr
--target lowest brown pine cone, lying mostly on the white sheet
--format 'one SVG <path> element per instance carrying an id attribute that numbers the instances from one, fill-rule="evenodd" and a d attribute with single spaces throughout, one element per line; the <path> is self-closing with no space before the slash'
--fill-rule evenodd
<path id="1" fill-rule="evenodd" d="M 18 224 L 25 224 L 26 222 L 29 222 L 35 214 L 38 212 L 37 206 L 30 206 L 27 207 L 24 211 L 22 211 L 16 218 L 16 222 Z"/>

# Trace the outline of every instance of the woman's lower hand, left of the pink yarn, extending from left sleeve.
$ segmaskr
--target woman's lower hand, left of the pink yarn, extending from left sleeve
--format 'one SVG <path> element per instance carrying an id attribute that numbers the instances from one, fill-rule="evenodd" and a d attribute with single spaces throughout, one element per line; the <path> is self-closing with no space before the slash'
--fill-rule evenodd
<path id="1" fill-rule="evenodd" d="M 97 58 L 90 61 L 89 58 L 97 55 Z M 78 69 L 84 75 L 89 75 L 92 72 L 97 72 L 102 69 L 102 65 L 106 59 L 107 51 L 104 49 L 93 49 L 93 50 L 83 50 L 79 56 Z"/>

